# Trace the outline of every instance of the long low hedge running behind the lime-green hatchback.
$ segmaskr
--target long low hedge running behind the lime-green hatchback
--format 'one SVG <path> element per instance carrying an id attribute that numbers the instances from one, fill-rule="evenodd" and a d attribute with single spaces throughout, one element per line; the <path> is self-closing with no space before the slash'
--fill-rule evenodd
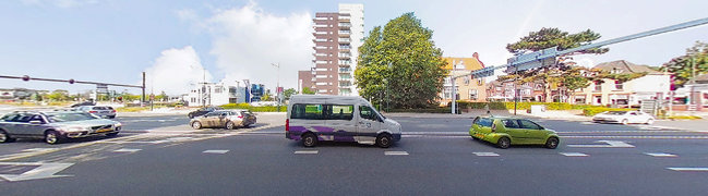
<path id="1" fill-rule="evenodd" d="M 489 103 L 490 110 L 512 110 L 514 109 L 514 102 L 467 102 L 467 101 L 457 101 L 457 106 L 460 109 L 471 108 L 471 109 L 484 109 L 484 106 Z M 531 109 L 533 105 L 543 105 L 547 110 L 571 110 L 574 109 L 573 105 L 567 102 L 517 102 L 517 110 L 528 110 Z"/>

